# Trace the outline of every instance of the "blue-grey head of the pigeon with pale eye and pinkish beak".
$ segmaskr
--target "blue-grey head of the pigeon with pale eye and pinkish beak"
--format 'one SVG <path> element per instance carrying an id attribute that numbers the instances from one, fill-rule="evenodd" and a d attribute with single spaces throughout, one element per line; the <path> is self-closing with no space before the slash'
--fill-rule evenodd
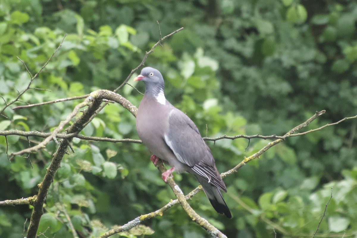
<path id="1" fill-rule="evenodd" d="M 164 78 L 157 69 L 145 67 L 141 70 L 140 75 L 134 79 L 134 81 L 138 80 L 145 82 L 145 94 L 148 96 L 156 97 L 160 91 L 164 91 Z"/>

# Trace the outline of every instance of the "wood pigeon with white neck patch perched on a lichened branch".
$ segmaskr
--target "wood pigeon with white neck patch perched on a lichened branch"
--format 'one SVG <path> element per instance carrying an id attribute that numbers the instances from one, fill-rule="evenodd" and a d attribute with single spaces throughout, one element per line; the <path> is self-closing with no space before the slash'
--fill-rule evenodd
<path id="1" fill-rule="evenodd" d="M 165 98 L 164 79 L 159 70 L 145 67 L 134 81 L 144 81 L 145 94 L 136 115 L 136 131 L 142 143 L 153 153 L 151 161 L 162 159 L 172 168 L 162 173 L 167 181 L 172 172 L 193 174 L 213 208 L 231 218 L 221 191 L 227 192 L 218 173 L 210 148 L 197 126 Z"/>

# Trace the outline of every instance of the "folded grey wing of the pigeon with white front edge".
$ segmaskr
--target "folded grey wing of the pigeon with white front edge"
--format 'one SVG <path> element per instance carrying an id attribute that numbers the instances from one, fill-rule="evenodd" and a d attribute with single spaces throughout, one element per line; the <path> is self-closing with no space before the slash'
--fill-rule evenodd
<path id="1" fill-rule="evenodd" d="M 169 127 L 164 140 L 176 158 L 187 164 L 208 183 L 227 191 L 210 148 L 203 141 L 197 126 L 183 112 L 174 108 L 169 115 Z"/>

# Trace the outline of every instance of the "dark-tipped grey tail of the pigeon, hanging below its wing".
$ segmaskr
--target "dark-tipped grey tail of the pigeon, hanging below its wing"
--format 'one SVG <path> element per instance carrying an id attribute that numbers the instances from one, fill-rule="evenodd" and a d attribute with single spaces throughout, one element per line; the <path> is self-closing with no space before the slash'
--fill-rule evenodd
<path id="1" fill-rule="evenodd" d="M 216 186 L 208 183 L 202 176 L 195 174 L 198 182 L 202 185 L 203 191 L 206 193 L 207 198 L 210 200 L 212 207 L 220 214 L 225 214 L 226 217 L 232 218 L 226 202 L 223 200 L 221 191 Z"/>

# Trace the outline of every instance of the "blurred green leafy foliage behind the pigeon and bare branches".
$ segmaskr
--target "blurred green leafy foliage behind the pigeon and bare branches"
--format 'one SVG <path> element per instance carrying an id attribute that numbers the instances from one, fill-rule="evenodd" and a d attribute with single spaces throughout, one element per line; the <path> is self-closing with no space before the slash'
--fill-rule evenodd
<path id="1" fill-rule="evenodd" d="M 302 131 L 310 130 L 357 114 L 356 20 L 352 0 L 0 0 L 0 95 L 10 102 L 30 81 L 17 56 L 34 75 L 65 34 L 31 85 L 50 91 L 28 90 L 14 106 L 114 90 L 159 40 L 159 21 L 162 36 L 185 29 L 145 65 L 162 72 L 166 98 L 202 136 L 284 135 L 326 110 Z M 129 83 L 144 92 L 144 84 Z M 139 106 L 142 95 L 133 87 L 118 93 Z M 79 102 L 7 108 L 0 130 L 49 132 Z M 312 237 L 333 187 L 317 236 L 356 237 L 356 123 L 288 138 L 225 178 L 232 219 L 217 214 L 203 192 L 189 203 L 228 237 L 274 237 L 273 228 L 276 237 Z M 82 134 L 138 138 L 135 118 L 113 103 Z M 29 139 L 32 146 L 41 141 Z M 29 145 L 20 136 L 7 141 L 9 152 Z M 225 172 L 268 142 L 207 144 Z M 1 136 L 0 201 L 37 194 L 56 147 L 50 142 L 30 155 L 32 166 L 23 156 L 10 163 Z M 69 222 L 78 237 L 98 237 L 175 198 L 141 144 L 74 139 L 73 148 L 49 191 L 39 237 L 74 237 Z M 189 174 L 174 179 L 184 193 L 198 185 Z M 31 212 L 28 205 L 1 207 L 0 237 L 24 237 Z M 112 237 L 208 237 L 180 206 L 143 225 Z"/>

